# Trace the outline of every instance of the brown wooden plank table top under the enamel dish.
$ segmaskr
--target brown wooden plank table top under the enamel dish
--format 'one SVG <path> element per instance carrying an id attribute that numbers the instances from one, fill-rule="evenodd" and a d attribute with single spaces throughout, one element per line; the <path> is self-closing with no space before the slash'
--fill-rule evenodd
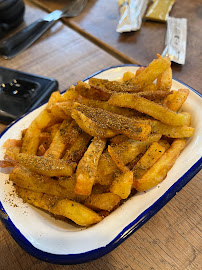
<path id="1" fill-rule="evenodd" d="M 35 2 L 40 2 L 41 6 L 51 10 L 56 4 L 62 5 L 65 1 Z M 45 14 L 36 5 L 28 1 L 25 3 L 25 24 Z M 201 20 L 197 15 L 200 14 L 197 8 L 199 1 L 187 0 L 186 3 L 187 5 L 183 2 L 180 8 L 180 1 L 176 1 L 172 11 L 173 16 L 184 16 L 189 20 L 187 61 L 184 66 L 173 66 L 174 75 L 199 90 L 200 34 L 197 32 L 199 27 L 195 25 Z M 89 0 L 80 16 L 65 20 L 68 26 L 57 22 L 21 55 L 11 60 L 1 58 L 0 65 L 54 77 L 59 81 L 61 90 L 108 66 L 127 62 L 147 65 L 157 52 L 161 53 L 163 50 L 165 25 L 144 22 L 141 31 L 120 35 L 115 32 L 117 15 L 115 0 Z M 161 42 L 151 42 L 150 47 L 146 47 L 148 40 L 157 40 L 159 36 Z M 0 129 L 3 128 L 5 126 L 0 125 Z M 115 250 L 100 259 L 81 265 L 53 265 L 30 256 L 15 243 L 0 223 L 0 270 L 201 269 L 201 178 L 200 172 Z"/>

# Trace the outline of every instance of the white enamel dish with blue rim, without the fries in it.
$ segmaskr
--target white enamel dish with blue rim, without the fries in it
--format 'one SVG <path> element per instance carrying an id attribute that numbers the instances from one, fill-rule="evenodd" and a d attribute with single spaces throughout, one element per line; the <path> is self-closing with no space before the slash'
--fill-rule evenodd
<path id="1" fill-rule="evenodd" d="M 135 72 L 138 66 L 123 65 L 101 70 L 90 77 L 118 80 L 123 73 Z M 88 77 L 86 80 L 88 80 Z M 23 203 L 8 183 L 8 170 L 0 170 L 0 216 L 15 241 L 29 254 L 57 264 L 77 264 L 97 259 L 121 244 L 158 212 L 202 167 L 202 99 L 194 89 L 173 79 L 172 89 L 188 88 L 190 94 L 183 110 L 191 112 L 195 133 L 177 159 L 167 178 L 147 192 L 139 192 L 90 228 L 80 228 L 55 220 L 45 212 Z M 43 106 L 11 124 L 0 137 L 0 159 L 3 143 L 20 138 L 21 130 L 43 109 Z M 17 206 L 17 207 L 16 207 Z"/>

